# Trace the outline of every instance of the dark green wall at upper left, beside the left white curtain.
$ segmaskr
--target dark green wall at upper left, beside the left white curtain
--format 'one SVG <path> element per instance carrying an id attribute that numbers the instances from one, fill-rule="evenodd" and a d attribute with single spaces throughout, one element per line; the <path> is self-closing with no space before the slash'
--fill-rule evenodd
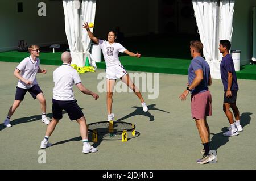
<path id="1" fill-rule="evenodd" d="M 17 2 L 23 3 L 23 12 L 17 12 Z M 38 15 L 39 2 L 46 3 L 46 16 Z M 0 52 L 15 49 L 19 40 L 28 45 L 67 42 L 62 1 L 1 0 L 0 22 Z"/>

